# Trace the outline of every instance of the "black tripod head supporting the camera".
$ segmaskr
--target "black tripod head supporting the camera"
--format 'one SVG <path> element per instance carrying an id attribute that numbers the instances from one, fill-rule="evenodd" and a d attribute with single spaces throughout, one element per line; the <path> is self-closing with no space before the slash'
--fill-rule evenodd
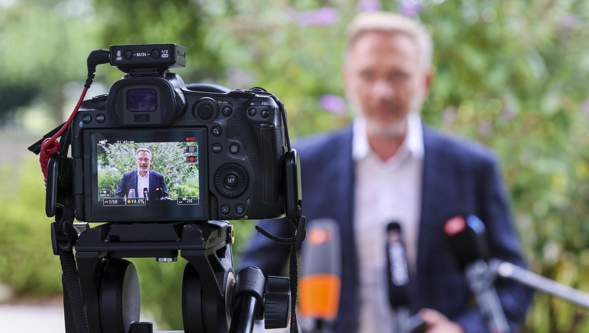
<path id="1" fill-rule="evenodd" d="M 201 223 L 107 223 L 82 229 L 75 243 L 80 294 L 88 333 L 153 333 L 139 321 L 140 292 L 133 263 L 123 258 L 188 261 L 182 283 L 184 332 L 252 332 L 253 321 L 266 328 L 286 327 L 290 314 L 289 279 L 264 278 L 248 267 L 234 275 L 233 226 Z M 52 241 L 63 240 L 55 235 Z M 67 284 L 64 283 L 64 291 Z M 75 333 L 74 311 L 64 292 L 65 331 Z M 233 315 L 231 315 L 233 314 Z M 231 318 L 231 319 L 229 319 Z"/>

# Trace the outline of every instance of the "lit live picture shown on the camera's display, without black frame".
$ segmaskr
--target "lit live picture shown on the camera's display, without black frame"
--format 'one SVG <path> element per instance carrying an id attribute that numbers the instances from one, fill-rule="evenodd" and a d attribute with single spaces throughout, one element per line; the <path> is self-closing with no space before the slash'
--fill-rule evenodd
<path id="1" fill-rule="evenodd" d="M 97 142 L 98 200 L 143 206 L 150 200 L 198 205 L 198 142 Z"/>

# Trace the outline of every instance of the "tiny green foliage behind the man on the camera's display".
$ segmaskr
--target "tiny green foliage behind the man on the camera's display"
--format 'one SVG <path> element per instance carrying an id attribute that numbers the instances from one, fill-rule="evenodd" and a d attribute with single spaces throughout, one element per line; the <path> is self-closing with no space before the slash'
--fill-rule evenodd
<path id="1" fill-rule="evenodd" d="M 185 156 L 188 155 L 186 147 L 185 142 L 100 145 L 98 189 L 110 189 L 111 197 L 114 197 L 123 173 L 137 170 L 135 152 L 139 148 L 146 148 L 151 151 L 149 169 L 163 174 L 167 192 L 172 199 L 178 196 L 200 197 L 198 164 L 185 162 Z M 123 196 L 126 195 L 127 193 L 123 193 Z"/>

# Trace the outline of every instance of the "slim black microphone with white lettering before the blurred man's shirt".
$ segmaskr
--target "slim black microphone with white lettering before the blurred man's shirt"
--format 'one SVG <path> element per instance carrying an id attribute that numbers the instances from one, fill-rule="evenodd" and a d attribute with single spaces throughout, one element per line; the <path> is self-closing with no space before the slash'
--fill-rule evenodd
<path id="1" fill-rule="evenodd" d="M 386 226 L 386 258 L 389 302 L 395 317 L 395 332 L 425 332 L 425 323 L 419 315 L 409 317 L 409 269 L 401 225 L 398 222 L 391 222 Z"/>

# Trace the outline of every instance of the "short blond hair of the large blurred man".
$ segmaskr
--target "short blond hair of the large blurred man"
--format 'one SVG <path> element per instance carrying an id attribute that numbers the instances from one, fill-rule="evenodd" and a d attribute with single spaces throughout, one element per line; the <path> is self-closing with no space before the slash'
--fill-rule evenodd
<path id="1" fill-rule="evenodd" d="M 434 43 L 425 27 L 408 17 L 392 12 L 363 12 L 356 16 L 346 31 L 346 57 L 356 38 L 364 32 L 383 31 L 401 33 L 413 39 L 419 49 L 419 61 L 423 69 L 429 70 L 432 65 Z"/>

